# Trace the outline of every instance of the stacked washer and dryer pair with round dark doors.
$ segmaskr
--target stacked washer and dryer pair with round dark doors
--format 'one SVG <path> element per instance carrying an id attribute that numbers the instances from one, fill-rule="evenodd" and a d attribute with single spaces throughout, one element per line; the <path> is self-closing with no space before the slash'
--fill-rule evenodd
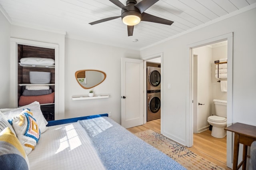
<path id="1" fill-rule="evenodd" d="M 148 111 L 147 121 L 161 117 L 161 68 L 147 67 L 147 96 Z"/>

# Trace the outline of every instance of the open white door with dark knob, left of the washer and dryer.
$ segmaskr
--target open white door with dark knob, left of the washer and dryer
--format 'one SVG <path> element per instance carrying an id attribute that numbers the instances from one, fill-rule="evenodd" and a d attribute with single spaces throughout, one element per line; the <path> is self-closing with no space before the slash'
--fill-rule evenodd
<path id="1" fill-rule="evenodd" d="M 121 125 L 143 125 L 143 60 L 121 59 Z"/>

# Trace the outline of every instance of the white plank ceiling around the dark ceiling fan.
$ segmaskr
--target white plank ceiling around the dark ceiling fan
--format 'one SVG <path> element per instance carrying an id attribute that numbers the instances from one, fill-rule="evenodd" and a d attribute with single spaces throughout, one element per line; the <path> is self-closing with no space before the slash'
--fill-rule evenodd
<path id="1" fill-rule="evenodd" d="M 126 4 L 126 0 L 120 2 Z M 174 23 L 168 26 L 142 21 L 134 26 L 133 36 L 128 37 L 121 18 L 88 24 L 121 15 L 121 9 L 109 0 L 0 0 L 0 10 L 13 25 L 130 49 L 143 49 L 255 5 L 256 0 L 159 0 L 145 12 Z M 138 42 L 132 42 L 135 39 Z"/>

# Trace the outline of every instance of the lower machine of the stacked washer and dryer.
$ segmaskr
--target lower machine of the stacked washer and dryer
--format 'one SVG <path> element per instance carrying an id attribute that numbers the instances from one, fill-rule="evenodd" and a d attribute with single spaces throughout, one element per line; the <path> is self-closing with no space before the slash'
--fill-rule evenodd
<path id="1" fill-rule="evenodd" d="M 160 119 L 161 117 L 161 93 L 148 93 L 147 121 Z"/>

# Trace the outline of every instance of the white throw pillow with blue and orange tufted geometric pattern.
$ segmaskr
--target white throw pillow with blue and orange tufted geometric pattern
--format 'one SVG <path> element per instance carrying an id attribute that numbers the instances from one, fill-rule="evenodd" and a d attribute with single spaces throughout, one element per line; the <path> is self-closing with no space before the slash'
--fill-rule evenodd
<path id="1" fill-rule="evenodd" d="M 27 155 L 34 150 L 40 138 L 40 129 L 32 115 L 32 112 L 25 109 L 20 115 L 9 120 Z"/>

